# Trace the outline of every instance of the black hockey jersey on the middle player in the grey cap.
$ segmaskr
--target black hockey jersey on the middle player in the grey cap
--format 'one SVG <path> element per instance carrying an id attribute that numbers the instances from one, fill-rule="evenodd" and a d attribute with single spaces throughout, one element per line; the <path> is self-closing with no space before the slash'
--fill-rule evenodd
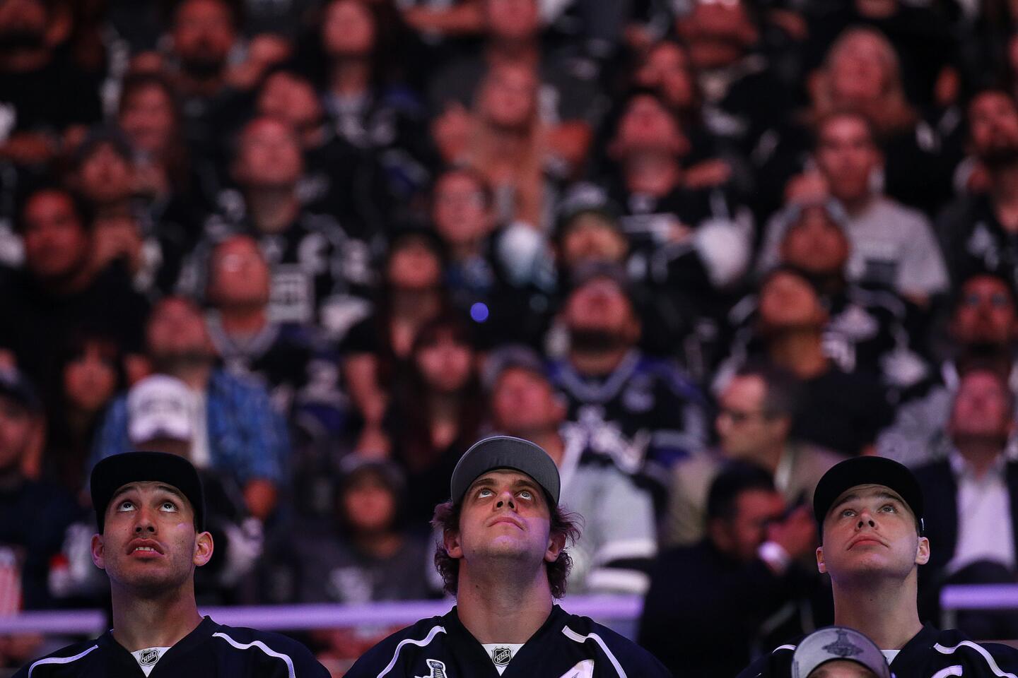
<path id="1" fill-rule="evenodd" d="M 500 652 L 501 651 L 501 652 Z M 346 678 L 498 678 L 496 662 L 463 627 L 456 608 L 422 619 L 365 653 Z M 667 678 L 668 670 L 637 644 L 556 605 L 548 621 L 504 664 L 502 678 Z"/>

